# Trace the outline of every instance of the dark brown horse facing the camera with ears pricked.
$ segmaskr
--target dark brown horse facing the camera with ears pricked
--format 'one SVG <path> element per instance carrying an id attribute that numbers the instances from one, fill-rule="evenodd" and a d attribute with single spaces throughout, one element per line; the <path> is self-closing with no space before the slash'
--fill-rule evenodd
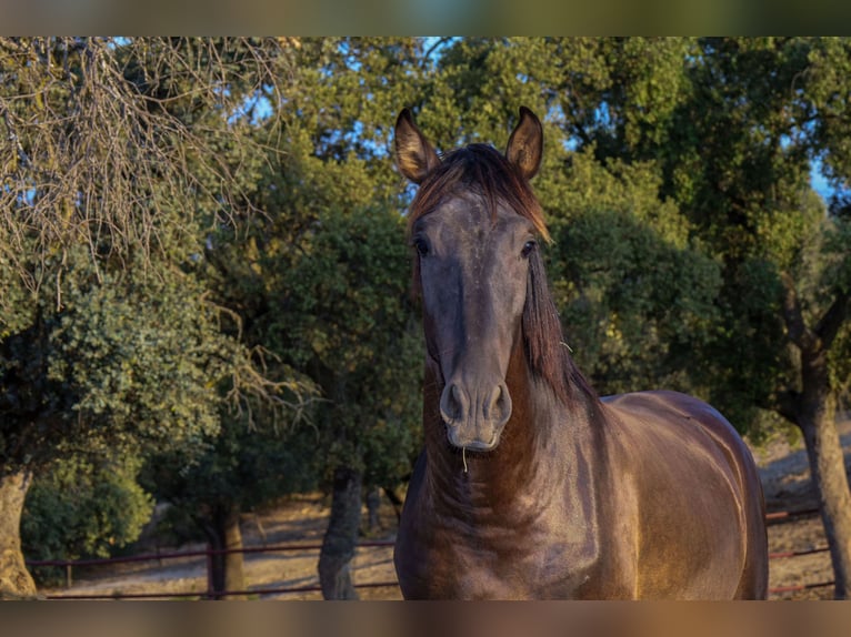
<path id="1" fill-rule="evenodd" d="M 408 110 L 397 163 L 423 307 L 420 455 L 394 563 L 407 598 L 764 598 L 753 458 L 705 403 L 598 398 L 547 287 L 529 186 L 543 134 L 520 110 L 505 154 L 442 159 Z"/>

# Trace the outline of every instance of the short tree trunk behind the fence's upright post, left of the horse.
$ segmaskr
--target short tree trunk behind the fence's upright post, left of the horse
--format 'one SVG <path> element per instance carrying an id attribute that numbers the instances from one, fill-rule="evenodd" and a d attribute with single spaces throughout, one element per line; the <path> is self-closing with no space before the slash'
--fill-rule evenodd
<path id="1" fill-rule="evenodd" d="M 242 548 L 242 532 L 239 527 L 239 507 L 218 506 L 212 518 L 203 524 L 204 534 L 212 550 Z M 242 553 L 217 553 L 210 558 L 209 574 L 213 599 L 246 599 L 246 595 L 219 595 L 228 590 L 246 590 L 246 575 Z"/>

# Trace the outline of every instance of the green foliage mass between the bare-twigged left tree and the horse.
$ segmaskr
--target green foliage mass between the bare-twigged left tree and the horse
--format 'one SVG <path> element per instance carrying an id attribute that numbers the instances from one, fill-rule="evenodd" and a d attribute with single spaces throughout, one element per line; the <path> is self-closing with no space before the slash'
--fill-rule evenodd
<path id="1" fill-rule="evenodd" d="M 170 453 L 149 464 L 151 488 L 198 524 L 314 488 L 338 463 L 376 481 L 409 471 L 421 361 L 404 351 L 418 344 L 408 251 L 398 213 L 376 202 L 398 195 L 387 114 L 414 91 L 420 51 L 404 38 L 309 38 L 289 51 L 288 90 L 270 119 L 286 129 L 244 189 L 264 215 L 211 232 L 200 272 L 230 310 L 223 331 L 263 353 L 264 374 L 321 396 L 303 404 L 298 426 L 254 411 L 249 427 L 223 413 L 221 434 L 193 461 Z M 257 134 L 274 136 L 266 122 Z M 389 397 L 400 387 L 401 400 Z"/>

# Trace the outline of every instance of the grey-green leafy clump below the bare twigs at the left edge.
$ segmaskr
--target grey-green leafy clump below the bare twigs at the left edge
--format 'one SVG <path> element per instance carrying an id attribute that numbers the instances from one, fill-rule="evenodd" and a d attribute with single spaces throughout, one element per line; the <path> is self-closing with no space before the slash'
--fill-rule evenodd
<path id="1" fill-rule="evenodd" d="M 59 448 L 140 453 L 214 433 L 219 384 L 244 354 L 219 332 L 203 289 L 177 270 L 98 280 L 86 255 L 66 261 L 76 265 L 63 291 L 41 294 L 36 321 L 0 347 L 6 471 Z"/>

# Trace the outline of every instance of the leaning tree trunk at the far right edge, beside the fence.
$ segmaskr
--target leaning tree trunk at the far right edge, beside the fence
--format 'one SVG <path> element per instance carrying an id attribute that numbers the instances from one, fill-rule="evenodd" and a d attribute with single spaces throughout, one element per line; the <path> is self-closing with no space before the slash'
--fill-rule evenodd
<path id="1" fill-rule="evenodd" d="M 835 575 L 834 597 L 847 599 L 851 576 L 851 491 L 837 432 L 835 400 L 805 408 L 799 421 L 807 444 L 810 473 L 819 494 L 819 509 Z"/>

